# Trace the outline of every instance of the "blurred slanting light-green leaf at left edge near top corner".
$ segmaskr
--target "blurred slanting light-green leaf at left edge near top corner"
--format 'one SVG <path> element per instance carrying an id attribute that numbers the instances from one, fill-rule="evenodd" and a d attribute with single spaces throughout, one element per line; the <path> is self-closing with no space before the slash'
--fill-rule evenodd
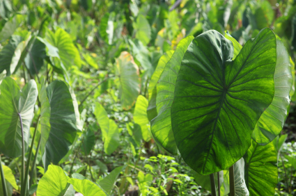
<path id="1" fill-rule="evenodd" d="M 8 20 L 0 32 L 0 43 L 10 38 L 23 21 L 23 15 L 15 15 L 15 17 Z"/>

